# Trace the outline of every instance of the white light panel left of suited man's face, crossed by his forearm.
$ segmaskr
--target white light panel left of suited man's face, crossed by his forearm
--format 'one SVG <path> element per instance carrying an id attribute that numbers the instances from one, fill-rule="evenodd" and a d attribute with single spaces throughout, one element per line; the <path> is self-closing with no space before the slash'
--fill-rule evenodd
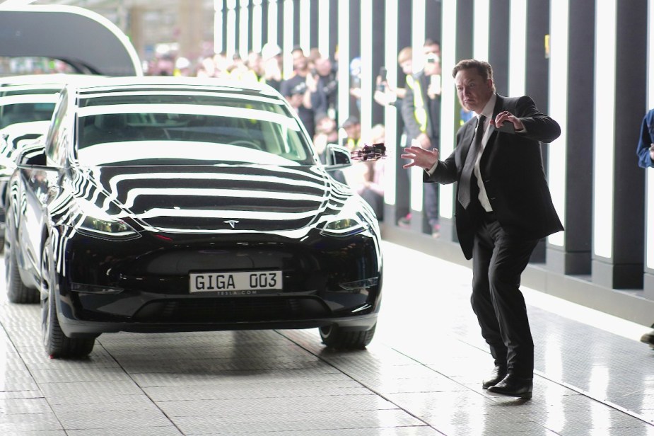
<path id="1" fill-rule="evenodd" d="M 442 46 L 448 47 L 441 50 L 440 65 L 443 69 L 441 75 L 442 91 L 440 93 L 440 159 L 447 159 L 456 142 L 455 125 L 457 119 L 455 103 L 457 93 L 451 71 L 457 63 L 456 42 L 457 42 L 457 1 L 443 1 L 442 9 Z M 454 185 L 440 185 L 440 197 L 438 199 L 438 213 L 441 217 L 452 218 Z"/>

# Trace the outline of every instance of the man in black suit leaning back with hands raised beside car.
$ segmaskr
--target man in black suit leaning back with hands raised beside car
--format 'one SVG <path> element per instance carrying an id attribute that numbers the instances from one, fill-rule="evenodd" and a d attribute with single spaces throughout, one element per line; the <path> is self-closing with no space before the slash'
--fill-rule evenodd
<path id="1" fill-rule="evenodd" d="M 542 163 L 541 142 L 561 128 L 531 98 L 495 92 L 490 64 L 459 62 L 452 76 L 460 103 L 478 116 L 457 132 L 445 159 L 438 150 L 407 147 L 402 157 L 424 168 L 424 181 L 457 182 L 456 226 L 463 253 L 472 258 L 472 309 L 495 368 L 482 387 L 531 398 L 534 343 L 520 275 L 539 239 L 563 230 Z"/>

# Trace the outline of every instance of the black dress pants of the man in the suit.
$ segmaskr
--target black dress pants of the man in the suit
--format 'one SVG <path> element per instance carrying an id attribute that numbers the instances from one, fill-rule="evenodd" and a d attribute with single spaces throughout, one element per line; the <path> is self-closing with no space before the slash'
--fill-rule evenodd
<path id="1" fill-rule="evenodd" d="M 532 378 L 532 340 L 520 275 L 538 240 L 510 236 L 494 219 L 481 212 L 472 251 L 472 310 L 496 365 L 510 374 Z"/>

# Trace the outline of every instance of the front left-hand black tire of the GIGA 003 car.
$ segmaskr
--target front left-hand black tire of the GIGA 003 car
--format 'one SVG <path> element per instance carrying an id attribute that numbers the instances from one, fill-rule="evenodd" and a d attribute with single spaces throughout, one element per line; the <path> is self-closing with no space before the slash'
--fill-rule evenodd
<path id="1" fill-rule="evenodd" d="M 81 358 L 86 357 L 93 351 L 95 338 L 69 338 L 64 335 L 62 327 L 57 318 L 57 306 L 52 289 L 54 271 L 52 258 L 48 251 L 49 239 L 45 241 L 41 255 L 41 331 L 43 345 L 50 357 Z"/>

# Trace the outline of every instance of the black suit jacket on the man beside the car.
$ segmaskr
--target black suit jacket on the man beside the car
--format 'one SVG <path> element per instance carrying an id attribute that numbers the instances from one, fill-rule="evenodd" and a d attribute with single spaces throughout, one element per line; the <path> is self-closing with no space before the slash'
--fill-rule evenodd
<path id="1" fill-rule="evenodd" d="M 564 229 L 551 201 L 540 149 L 541 142 L 551 142 L 559 137 L 561 127 L 540 113 L 527 96 L 508 98 L 498 95 L 493 117 L 504 110 L 520 118 L 525 133 L 500 132 L 489 126 L 489 140 L 479 163 L 484 187 L 504 231 L 525 239 L 540 239 Z M 438 161 L 431 176 L 425 172 L 424 181 L 458 182 L 476 125 L 474 117 L 462 125 L 457 132 L 455 150 L 445 161 Z M 457 235 L 467 259 L 472 258 L 474 232 L 482 213 L 481 207 L 474 207 L 475 203 L 478 204 L 479 192 L 474 178 L 472 185 L 473 203 L 468 210 L 456 203 Z"/>

